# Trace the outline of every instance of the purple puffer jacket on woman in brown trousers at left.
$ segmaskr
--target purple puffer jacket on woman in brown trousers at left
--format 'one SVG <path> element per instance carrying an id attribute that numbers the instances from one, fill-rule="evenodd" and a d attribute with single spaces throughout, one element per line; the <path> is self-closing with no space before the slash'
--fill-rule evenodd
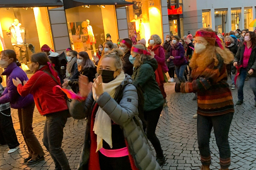
<path id="1" fill-rule="evenodd" d="M 26 73 L 18 67 L 15 62 L 9 64 L 3 71 L 2 75 L 6 75 L 6 89 L 0 97 L 0 103 L 10 102 L 11 108 L 21 109 L 34 102 L 32 94 L 21 97 L 17 91 L 17 87 L 12 82 L 12 79 L 16 79 L 16 77 L 20 79 L 22 84 L 24 80 L 29 79 Z"/>

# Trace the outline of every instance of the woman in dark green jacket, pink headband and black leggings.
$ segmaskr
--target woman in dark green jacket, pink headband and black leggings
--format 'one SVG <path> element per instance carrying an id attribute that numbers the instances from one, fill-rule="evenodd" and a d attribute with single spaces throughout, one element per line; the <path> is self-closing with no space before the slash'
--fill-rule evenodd
<path id="1" fill-rule="evenodd" d="M 165 157 L 159 139 L 155 134 L 157 122 L 163 110 L 163 95 L 155 79 L 154 71 L 157 69 L 157 60 L 143 45 L 134 45 L 131 48 L 130 62 L 134 65 L 132 75 L 133 84 L 140 85 L 144 95 L 144 117 L 147 121 L 146 135 L 152 143 L 156 153 L 157 162 L 160 165 L 165 163 Z"/>

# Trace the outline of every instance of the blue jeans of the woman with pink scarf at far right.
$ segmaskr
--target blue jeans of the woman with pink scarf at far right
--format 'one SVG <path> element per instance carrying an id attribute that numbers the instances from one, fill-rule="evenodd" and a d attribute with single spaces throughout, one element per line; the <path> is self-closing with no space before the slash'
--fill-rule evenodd
<path id="1" fill-rule="evenodd" d="M 244 100 L 244 81 L 246 79 L 246 76 L 247 76 L 247 69 L 240 68 L 240 74 L 236 80 L 239 101 Z M 250 80 L 250 87 L 253 90 L 254 100 L 256 101 L 256 77 L 249 77 L 249 80 Z"/>

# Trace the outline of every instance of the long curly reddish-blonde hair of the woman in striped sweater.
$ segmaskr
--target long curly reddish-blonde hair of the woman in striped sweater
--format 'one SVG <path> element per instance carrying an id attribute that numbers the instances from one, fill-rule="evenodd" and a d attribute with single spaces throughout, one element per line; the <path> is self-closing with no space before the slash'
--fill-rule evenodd
<path id="1" fill-rule="evenodd" d="M 215 32 L 211 28 L 201 28 L 198 31 L 209 31 L 209 32 Z M 204 37 L 205 40 L 207 40 L 208 44 L 206 46 L 206 50 L 202 54 L 196 54 L 193 53 L 192 59 L 190 61 L 189 66 L 192 69 L 201 68 L 205 69 L 207 68 L 212 62 L 214 62 L 215 66 L 218 65 L 218 59 L 216 54 L 220 54 L 222 59 L 224 60 L 225 64 L 229 64 L 231 61 L 233 61 L 234 56 L 229 51 L 229 49 L 224 48 L 221 49 L 216 44 L 216 39 L 213 37 Z M 224 47 L 223 42 L 221 42 L 221 45 Z"/>

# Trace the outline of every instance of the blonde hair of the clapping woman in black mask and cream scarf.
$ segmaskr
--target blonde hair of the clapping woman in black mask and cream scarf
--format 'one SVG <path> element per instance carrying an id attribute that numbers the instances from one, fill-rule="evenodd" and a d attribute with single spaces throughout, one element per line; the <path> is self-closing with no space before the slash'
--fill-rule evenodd
<path id="1" fill-rule="evenodd" d="M 117 70 L 119 70 L 121 72 L 122 71 L 122 62 L 123 62 L 122 57 L 123 56 L 124 56 L 124 52 L 122 50 L 120 50 L 119 48 L 113 48 L 111 51 L 104 54 L 99 59 L 99 63 L 102 61 L 102 59 L 104 59 L 106 57 L 111 57 L 111 58 L 116 60 L 115 67 L 116 67 Z M 98 65 L 100 65 L 99 63 L 98 63 Z M 97 68 L 97 71 L 99 71 L 99 67 Z"/>

